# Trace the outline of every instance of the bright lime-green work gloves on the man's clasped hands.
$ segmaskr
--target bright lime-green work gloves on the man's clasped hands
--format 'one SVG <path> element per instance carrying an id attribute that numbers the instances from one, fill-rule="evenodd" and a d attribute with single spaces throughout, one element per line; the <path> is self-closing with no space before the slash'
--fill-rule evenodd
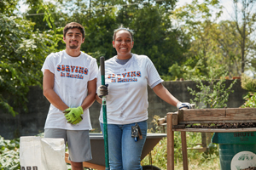
<path id="1" fill-rule="evenodd" d="M 84 113 L 83 108 L 81 106 L 77 108 L 68 108 L 64 111 L 67 122 L 72 124 L 77 124 L 83 120 L 82 114 Z"/>

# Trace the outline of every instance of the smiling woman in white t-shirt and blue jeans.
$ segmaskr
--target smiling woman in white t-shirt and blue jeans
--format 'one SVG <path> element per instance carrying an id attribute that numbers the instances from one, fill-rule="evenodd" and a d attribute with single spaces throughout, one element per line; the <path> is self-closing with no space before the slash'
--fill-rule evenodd
<path id="1" fill-rule="evenodd" d="M 105 61 L 108 86 L 101 85 L 102 76 L 98 75 L 96 95 L 102 104 L 101 97 L 107 94 L 109 165 L 110 169 L 142 169 L 140 161 L 148 129 L 148 85 L 170 105 L 191 105 L 169 93 L 148 56 L 131 53 L 133 31 L 119 26 L 113 31 L 112 44 L 117 55 Z M 99 119 L 104 134 L 102 111 Z"/>

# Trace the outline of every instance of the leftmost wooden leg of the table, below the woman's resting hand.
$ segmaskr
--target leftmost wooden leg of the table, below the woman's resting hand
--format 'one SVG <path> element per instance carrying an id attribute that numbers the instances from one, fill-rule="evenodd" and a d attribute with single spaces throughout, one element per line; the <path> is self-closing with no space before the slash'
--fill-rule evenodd
<path id="1" fill-rule="evenodd" d="M 174 170 L 174 133 L 172 113 L 167 113 L 167 170 Z"/>

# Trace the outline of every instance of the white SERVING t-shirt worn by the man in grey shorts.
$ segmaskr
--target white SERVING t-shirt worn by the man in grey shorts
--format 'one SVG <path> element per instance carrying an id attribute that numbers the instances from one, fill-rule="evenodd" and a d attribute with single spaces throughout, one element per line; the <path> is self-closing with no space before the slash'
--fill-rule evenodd
<path id="1" fill-rule="evenodd" d="M 71 108 L 82 105 L 88 92 L 87 82 L 95 79 L 98 73 L 96 59 L 83 52 L 72 57 L 65 50 L 49 54 L 42 67 L 43 74 L 46 69 L 55 74 L 55 93 Z M 82 116 L 83 120 L 77 125 L 67 123 L 64 113 L 50 104 L 44 128 L 90 130 L 89 110 L 85 110 Z"/>

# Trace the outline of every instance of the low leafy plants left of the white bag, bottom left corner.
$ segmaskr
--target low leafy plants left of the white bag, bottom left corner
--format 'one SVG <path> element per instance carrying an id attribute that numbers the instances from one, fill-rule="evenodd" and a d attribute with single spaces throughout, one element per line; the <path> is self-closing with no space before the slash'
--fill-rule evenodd
<path id="1" fill-rule="evenodd" d="M 0 136 L 0 169 L 20 169 L 20 139 L 5 140 Z"/>

